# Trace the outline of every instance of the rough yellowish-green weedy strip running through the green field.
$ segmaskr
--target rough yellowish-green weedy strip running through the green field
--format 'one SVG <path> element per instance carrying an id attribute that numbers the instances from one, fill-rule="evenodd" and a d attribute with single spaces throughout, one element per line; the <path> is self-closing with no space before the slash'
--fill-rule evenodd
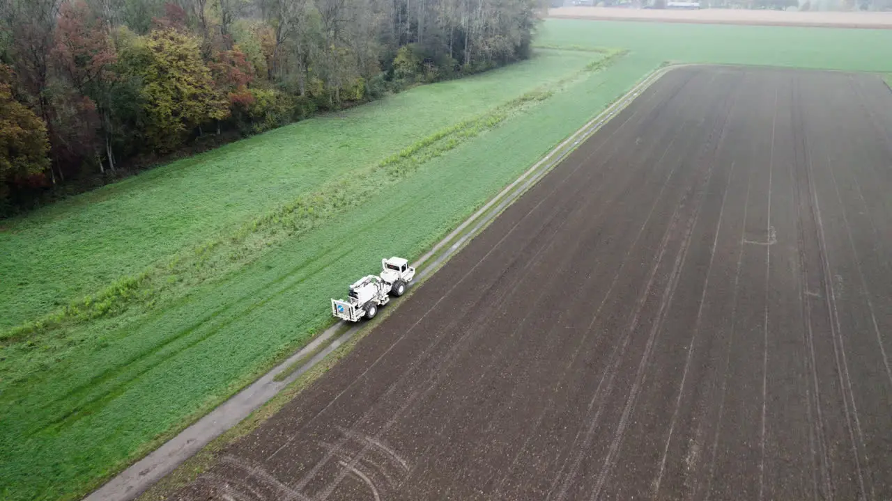
<path id="1" fill-rule="evenodd" d="M 344 210 L 358 206 L 384 185 L 399 182 L 425 162 L 548 99 L 555 92 L 552 87 L 564 86 L 584 73 L 605 70 L 625 53 L 606 49 L 593 52 L 607 53 L 607 57 L 591 62 L 582 71 L 553 86 L 534 89 L 475 119 L 443 128 L 384 159 L 373 168 L 324 185 L 317 192 L 299 197 L 277 210 L 255 218 L 233 234 L 180 254 L 163 266 L 151 267 L 138 275 L 124 277 L 98 294 L 74 301 L 37 321 L 0 333 L 0 343 L 9 345 L 26 341 L 37 346 L 39 340 L 34 338 L 53 334 L 60 327 L 118 315 L 134 305 L 153 308 L 161 301 L 180 296 L 195 285 L 244 267 L 257 259 L 264 250 L 285 238 L 306 233 Z"/>

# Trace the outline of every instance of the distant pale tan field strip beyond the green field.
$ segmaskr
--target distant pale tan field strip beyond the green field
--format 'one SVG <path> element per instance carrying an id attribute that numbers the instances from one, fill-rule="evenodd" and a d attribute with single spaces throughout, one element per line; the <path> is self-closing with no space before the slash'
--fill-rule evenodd
<path id="1" fill-rule="evenodd" d="M 560 7 L 549 17 L 594 21 L 660 21 L 761 26 L 811 26 L 818 28 L 892 29 L 892 12 L 787 12 L 748 9 L 694 11 Z"/>

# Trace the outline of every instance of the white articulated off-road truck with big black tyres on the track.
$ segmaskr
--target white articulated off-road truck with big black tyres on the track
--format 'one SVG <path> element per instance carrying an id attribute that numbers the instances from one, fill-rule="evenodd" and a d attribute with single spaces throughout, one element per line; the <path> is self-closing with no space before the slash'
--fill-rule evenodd
<path id="1" fill-rule="evenodd" d="M 347 300 L 332 300 L 332 315 L 348 322 L 375 318 L 378 307 L 390 302 L 391 295 L 403 295 L 415 278 L 415 268 L 406 259 L 381 259 L 381 267 L 380 275 L 364 276 L 353 283 Z"/>

